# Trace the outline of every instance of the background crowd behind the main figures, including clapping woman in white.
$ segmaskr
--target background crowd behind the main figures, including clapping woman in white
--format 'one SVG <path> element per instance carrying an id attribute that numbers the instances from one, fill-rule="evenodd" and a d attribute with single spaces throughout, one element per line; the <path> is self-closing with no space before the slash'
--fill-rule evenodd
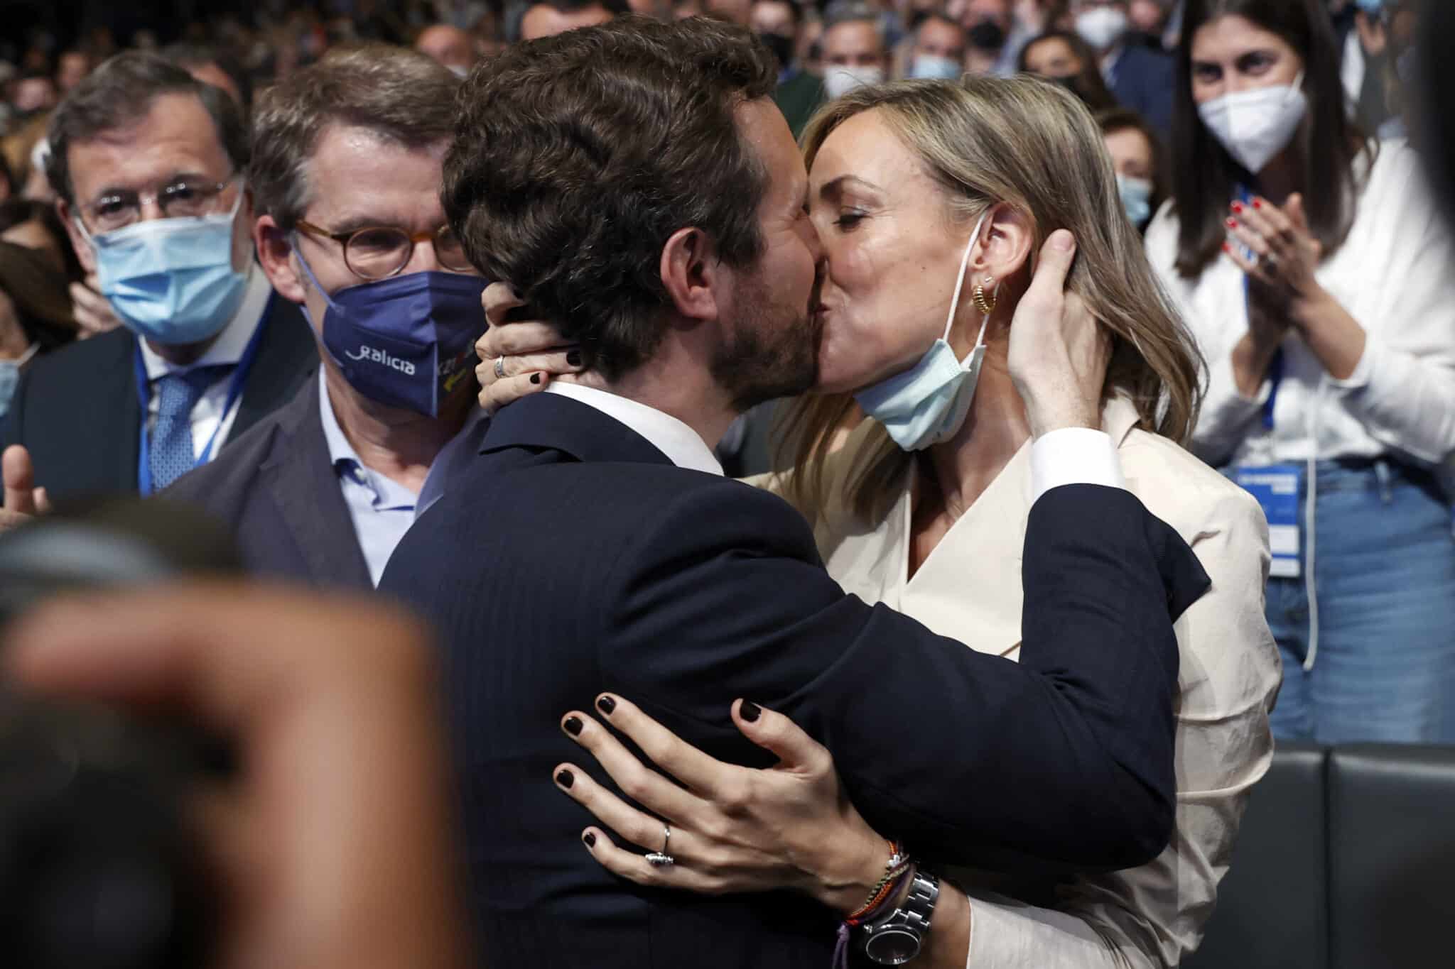
<path id="1" fill-rule="evenodd" d="M 1299 507 L 1275 533 L 1307 536 L 1276 556 L 1269 587 L 1285 660 L 1279 732 L 1455 734 L 1440 726 L 1442 716 L 1455 721 L 1455 642 L 1440 629 L 1455 597 L 1442 479 L 1455 423 L 1455 301 L 1432 254 L 1445 251 L 1445 237 L 1410 187 L 1416 4 L 358 0 L 185 13 L 54 23 L 36 12 L 28 32 L 0 44 L 0 414 L 38 356 L 127 323 L 87 231 L 58 215 L 76 200 L 58 195 L 52 163 L 58 105 L 121 51 L 156 52 L 220 89 L 239 123 L 255 92 L 329 51 L 412 46 L 464 77 L 511 44 L 624 13 L 749 28 L 777 58 L 774 100 L 794 135 L 825 103 L 885 80 L 1029 73 L 1096 116 L 1125 212 L 1197 336 L 1209 369 L 1192 449 L 1229 475 L 1302 465 Z M 1229 13 L 1254 31 L 1193 42 L 1200 25 Z M 242 174 L 243 160 L 231 169 Z M 1275 279 L 1267 267 L 1279 259 Z M 742 437 L 735 427 L 728 458 Z M 1378 565 L 1359 558 L 1371 545 Z M 381 568 L 371 564 L 375 580 Z M 1337 578 L 1371 572 L 1387 577 L 1379 588 Z M 1395 696 L 1404 702 L 1381 699 Z"/>

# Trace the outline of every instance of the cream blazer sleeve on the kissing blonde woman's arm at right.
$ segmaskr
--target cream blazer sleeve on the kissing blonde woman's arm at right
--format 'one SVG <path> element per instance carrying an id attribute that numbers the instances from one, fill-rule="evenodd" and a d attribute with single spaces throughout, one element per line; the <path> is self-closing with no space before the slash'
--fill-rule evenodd
<path id="1" fill-rule="evenodd" d="M 1229 484 L 1184 538 L 1212 588 L 1176 626 L 1171 844 L 1142 867 L 1077 880 L 1052 909 L 972 896 L 968 969 L 1176 966 L 1202 940 L 1248 790 L 1273 755 L 1267 715 L 1280 664 L 1263 613 L 1269 543 L 1257 503 Z"/>

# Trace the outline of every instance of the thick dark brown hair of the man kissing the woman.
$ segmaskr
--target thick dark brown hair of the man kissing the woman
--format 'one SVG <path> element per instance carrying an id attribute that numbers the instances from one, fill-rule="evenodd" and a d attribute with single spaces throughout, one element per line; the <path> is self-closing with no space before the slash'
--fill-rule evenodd
<path id="1" fill-rule="evenodd" d="M 674 232 L 701 230 L 729 266 L 762 253 L 768 179 L 735 109 L 771 94 L 776 76 L 748 31 L 697 17 L 621 17 L 512 46 L 460 92 L 450 225 L 487 279 L 615 379 L 662 337 Z"/>

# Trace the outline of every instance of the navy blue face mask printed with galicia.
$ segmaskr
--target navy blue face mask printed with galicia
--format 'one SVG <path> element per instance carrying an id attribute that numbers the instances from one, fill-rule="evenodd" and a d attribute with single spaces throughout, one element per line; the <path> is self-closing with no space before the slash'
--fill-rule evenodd
<path id="1" fill-rule="evenodd" d="M 480 307 L 485 280 L 463 273 L 409 273 L 330 296 L 303 253 L 298 261 L 329 304 L 323 349 L 349 386 L 371 401 L 438 417 L 439 405 L 473 372 L 474 341 L 486 325 Z"/>

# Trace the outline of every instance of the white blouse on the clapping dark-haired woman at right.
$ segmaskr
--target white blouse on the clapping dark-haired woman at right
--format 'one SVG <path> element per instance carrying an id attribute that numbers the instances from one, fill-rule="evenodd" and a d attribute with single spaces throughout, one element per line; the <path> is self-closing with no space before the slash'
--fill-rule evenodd
<path id="1" fill-rule="evenodd" d="M 1363 327 L 1363 356 L 1337 381 L 1291 331 L 1272 429 L 1270 381 L 1247 398 L 1232 376 L 1232 347 L 1248 331 L 1243 272 L 1219 256 L 1196 280 L 1179 276 L 1171 202 L 1148 227 L 1152 269 L 1208 357 L 1193 450 L 1209 463 L 1394 453 L 1436 465 L 1455 452 L 1455 246 L 1406 141 L 1379 144 L 1358 205 L 1349 238 L 1315 276 Z"/>

